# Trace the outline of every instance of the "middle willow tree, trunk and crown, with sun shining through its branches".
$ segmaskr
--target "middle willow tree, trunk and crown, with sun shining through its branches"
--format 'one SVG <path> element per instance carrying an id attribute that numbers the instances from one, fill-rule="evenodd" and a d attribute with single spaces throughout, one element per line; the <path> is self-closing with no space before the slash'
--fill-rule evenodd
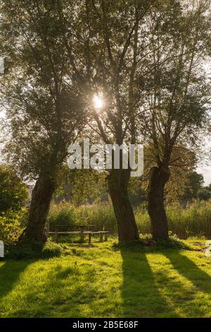
<path id="1" fill-rule="evenodd" d="M 84 82 L 91 131 L 104 143 L 122 146 L 122 143 L 138 142 L 134 93 L 136 68 L 142 54 L 137 54 L 137 49 L 147 44 L 143 25 L 153 2 L 128 0 L 122 5 L 117 0 L 84 0 L 79 1 L 74 20 L 69 18 L 69 25 L 75 29 L 77 47 L 72 47 L 67 32 L 67 49 L 70 59 L 72 54 L 80 54 L 75 61 L 72 59 L 72 66 L 77 79 Z M 103 98 L 101 109 L 92 105 L 95 94 Z M 120 169 L 112 167 L 107 171 L 119 241 L 138 239 L 127 193 L 131 170 L 124 170 L 120 162 Z"/>

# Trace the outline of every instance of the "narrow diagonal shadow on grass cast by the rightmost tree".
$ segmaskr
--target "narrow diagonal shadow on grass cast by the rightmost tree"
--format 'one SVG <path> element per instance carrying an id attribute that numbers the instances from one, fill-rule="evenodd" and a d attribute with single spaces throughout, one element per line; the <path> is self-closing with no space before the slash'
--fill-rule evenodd
<path id="1" fill-rule="evenodd" d="M 170 259 L 174 268 L 185 278 L 191 281 L 198 290 L 207 292 L 211 295 L 211 277 L 205 271 L 202 271 L 196 263 L 188 259 L 179 251 L 165 252 L 165 256 Z"/>

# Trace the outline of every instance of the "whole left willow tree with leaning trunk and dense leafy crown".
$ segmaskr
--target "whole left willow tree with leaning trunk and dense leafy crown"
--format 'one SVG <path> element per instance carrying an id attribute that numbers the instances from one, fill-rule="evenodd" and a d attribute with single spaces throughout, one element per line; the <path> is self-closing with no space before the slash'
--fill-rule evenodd
<path id="1" fill-rule="evenodd" d="M 60 1 L 21 0 L 18 6 L 1 1 L 1 36 L 9 61 L 1 91 L 10 127 L 6 150 L 20 174 L 36 181 L 24 237 L 40 242 L 58 168 L 84 117 L 60 6 Z"/>

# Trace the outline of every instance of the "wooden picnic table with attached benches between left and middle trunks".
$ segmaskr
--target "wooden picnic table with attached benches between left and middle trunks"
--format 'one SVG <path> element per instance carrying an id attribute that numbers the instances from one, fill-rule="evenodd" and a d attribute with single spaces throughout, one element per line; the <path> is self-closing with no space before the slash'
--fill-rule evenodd
<path id="1" fill-rule="evenodd" d="M 66 227 L 66 231 L 60 231 L 60 227 L 65 227 L 65 225 L 56 225 L 55 226 L 55 231 L 54 232 L 48 232 L 48 235 L 53 235 L 53 239 L 55 241 L 58 241 L 58 237 L 60 235 L 80 235 L 80 242 L 84 242 L 84 237 L 87 235 L 89 237 L 89 244 L 91 244 L 91 237 L 92 235 L 99 235 L 100 242 L 103 242 L 103 235 L 105 237 L 105 241 L 108 241 L 108 234 L 110 233 L 107 230 L 100 230 L 100 231 L 92 231 L 92 230 L 85 230 L 86 227 L 94 227 L 94 225 L 82 225 L 79 226 L 80 230 L 79 231 L 70 231 L 70 227 Z"/>

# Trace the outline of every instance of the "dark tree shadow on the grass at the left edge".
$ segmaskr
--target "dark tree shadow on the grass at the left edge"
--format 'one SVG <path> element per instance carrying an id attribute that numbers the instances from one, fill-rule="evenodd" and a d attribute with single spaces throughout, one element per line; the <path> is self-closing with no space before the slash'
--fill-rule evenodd
<path id="1" fill-rule="evenodd" d="M 0 266 L 0 300 L 13 289 L 28 264 L 28 261 L 5 261 Z"/>

